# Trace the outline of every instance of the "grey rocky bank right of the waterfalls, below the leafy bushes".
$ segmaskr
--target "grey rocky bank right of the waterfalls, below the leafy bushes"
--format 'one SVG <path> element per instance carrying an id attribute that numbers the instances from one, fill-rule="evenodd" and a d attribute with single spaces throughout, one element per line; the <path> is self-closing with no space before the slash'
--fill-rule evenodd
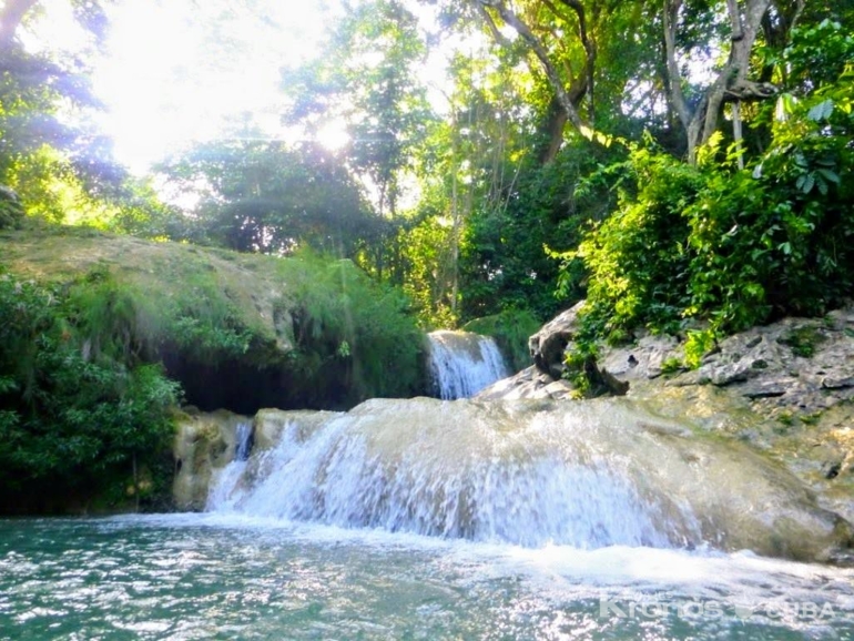
<path id="1" fill-rule="evenodd" d="M 479 397 L 572 397 L 560 376 L 582 305 L 531 337 L 535 366 Z M 653 411 L 695 420 L 784 464 L 822 506 L 854 521 L 854 306 L 730 336 L 691 372 L 683 359 L 678 338 L 641 334 L 630 346 L 602 346 L 596 365 Z"/>

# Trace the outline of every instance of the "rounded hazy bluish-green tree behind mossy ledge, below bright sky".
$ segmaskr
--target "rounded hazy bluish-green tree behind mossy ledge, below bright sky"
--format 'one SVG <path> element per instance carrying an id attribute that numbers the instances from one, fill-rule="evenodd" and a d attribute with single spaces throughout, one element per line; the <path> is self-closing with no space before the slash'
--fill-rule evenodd
<path id="1" fill-rule="evenodd" d="M 359 186 L 317 145 L 216 141 L 160 171 L 182 193 L 196 194 L 199 203 L 189 212 L 196 241 L 267 254 L 309 245 L 350 257 L 377 233 Z"/>

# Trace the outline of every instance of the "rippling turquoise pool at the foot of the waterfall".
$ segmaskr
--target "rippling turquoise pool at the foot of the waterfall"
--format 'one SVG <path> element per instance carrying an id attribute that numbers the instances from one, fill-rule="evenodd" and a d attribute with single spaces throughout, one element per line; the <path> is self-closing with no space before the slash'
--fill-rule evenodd
<path id="1" fill-rule="evenodd" d="M 6 520 L 0 639 L 854 639 L 854 571 L 236 516 Z"/>

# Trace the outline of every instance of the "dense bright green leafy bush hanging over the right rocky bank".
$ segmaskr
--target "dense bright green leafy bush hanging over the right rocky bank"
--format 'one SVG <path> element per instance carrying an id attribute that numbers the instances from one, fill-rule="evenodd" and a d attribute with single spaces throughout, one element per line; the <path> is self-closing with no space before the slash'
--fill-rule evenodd
<path id="1" fill-rule="evenodd" d="M 608 167 L 622 173 L 619 207 L 577 251 L 556 254 L 565 283 L 579 262 L 586 268 L 591 334 L 620 340 L 639 326 L 673 333 L 695 319 L 718 336 L 783 314 L 822 315 L 847 296 L 853 95 L 845 67 L 800 100 L 781 96 L 770 144 L 744 170 L 721 135 L 697 166 L 636 147 Z M 690 366 L 706 343 L 695 342 Z"/>

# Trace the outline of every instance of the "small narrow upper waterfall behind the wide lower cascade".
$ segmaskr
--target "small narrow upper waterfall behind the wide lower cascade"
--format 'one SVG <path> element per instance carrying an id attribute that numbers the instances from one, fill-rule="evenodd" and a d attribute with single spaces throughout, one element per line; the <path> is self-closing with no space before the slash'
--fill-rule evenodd
<path id="1" fill-rule="evenodd" d="M 468 398 L 510 375 L 496 342 L 470 332 L 431 332 L 429 372 L 434 395 Z"/>

